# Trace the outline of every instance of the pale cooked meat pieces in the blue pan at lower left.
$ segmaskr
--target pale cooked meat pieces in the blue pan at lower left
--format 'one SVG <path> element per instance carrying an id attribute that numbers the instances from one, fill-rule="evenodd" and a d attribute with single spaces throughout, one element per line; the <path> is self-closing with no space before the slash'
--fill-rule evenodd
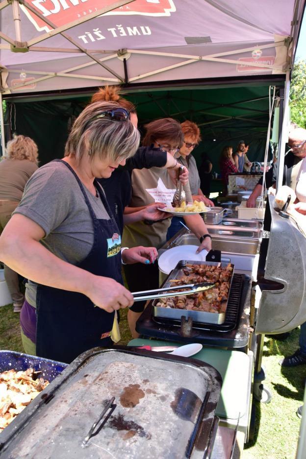
<path id="1" fill-rule="evenodd" d="M 0 373 L 0 432 L 48 386 L 44 378 L 35 378 L 37 373 L 33 368 Z"/>

